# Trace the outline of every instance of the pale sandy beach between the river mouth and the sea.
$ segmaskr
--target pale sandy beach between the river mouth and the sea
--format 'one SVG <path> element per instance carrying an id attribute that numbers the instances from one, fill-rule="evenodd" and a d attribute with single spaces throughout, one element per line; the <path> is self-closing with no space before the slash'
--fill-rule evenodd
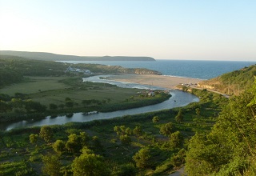
<path id="1" fill-rule="evenodd" d="M 202 79 L 197 78 L 181 78 L 155 74 L 122 74 L 113 75 L 107 79 L 121 82 L 134 82 L 151 86 L 161 86 L 167 89 L 175 89 L 175 87 L 180 84 L 195 84 L 202 82 Z"/>

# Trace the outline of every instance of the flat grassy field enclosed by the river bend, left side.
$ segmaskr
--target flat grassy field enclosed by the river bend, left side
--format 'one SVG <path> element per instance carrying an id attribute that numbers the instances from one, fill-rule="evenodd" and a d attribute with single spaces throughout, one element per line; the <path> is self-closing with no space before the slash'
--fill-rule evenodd
<path id="1" fill-rule="evenodd" d="M 111 99 L 111 102 L 121 102 L 130 96 L 136 95 L 138 90 L 122 89 L 117 86 L 92 86 L 88 88 L 74 87 L 61 82 L 66 77 L 27 77 L 26 82 L 7 86 L 0 90 L 0 94 L 15 93 L 29 94 L 29 97 L 44 105 L 50 103 L 65 103 L 65 98 L 81 103 L 85 99 L 97 99 L 99 101 Z"/>

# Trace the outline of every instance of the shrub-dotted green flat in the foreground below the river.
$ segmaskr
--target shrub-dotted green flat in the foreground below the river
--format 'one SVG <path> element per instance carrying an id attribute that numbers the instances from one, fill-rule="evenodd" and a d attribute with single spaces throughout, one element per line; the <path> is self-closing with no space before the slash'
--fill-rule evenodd
<path id="1" fill-rule="evenodd" d="M 0 174 L 170 174 L 184 164 L 188 139 L 210 131 L 227 101 L 206 90 L 193 94 L 201 102 L 174 110 L 2 131 Z"/>

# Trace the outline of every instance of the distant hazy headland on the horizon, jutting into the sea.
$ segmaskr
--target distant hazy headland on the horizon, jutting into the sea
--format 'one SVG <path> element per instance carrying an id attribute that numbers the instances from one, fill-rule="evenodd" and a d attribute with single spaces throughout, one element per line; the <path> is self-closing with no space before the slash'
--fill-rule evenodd
<path id="1" fill-rule="evenodd" d="M 22 58 L 30 58 L 44 61 L 155 61 L 150 57 L 129 57 L 129 56 L 102 56 L 102 57 L 89 57 L 89 56 L 75 56 L 75 55 L 62 55 L 44 52 L 27 52 L 27 51 L 13 51 L 1 50 L 0 55 L 12 55 Z"/>

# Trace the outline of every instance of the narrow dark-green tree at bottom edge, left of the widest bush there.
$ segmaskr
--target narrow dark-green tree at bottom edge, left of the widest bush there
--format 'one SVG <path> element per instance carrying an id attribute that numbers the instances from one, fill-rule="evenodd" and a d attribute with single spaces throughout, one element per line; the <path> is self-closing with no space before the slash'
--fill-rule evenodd
<path id="1" fill-rule="evenodd" d="M 61 176 L 61 162 L 59 162 L 58 155 L 46 155 L 42 157 L 42 172 L 50 176 Z"/>

